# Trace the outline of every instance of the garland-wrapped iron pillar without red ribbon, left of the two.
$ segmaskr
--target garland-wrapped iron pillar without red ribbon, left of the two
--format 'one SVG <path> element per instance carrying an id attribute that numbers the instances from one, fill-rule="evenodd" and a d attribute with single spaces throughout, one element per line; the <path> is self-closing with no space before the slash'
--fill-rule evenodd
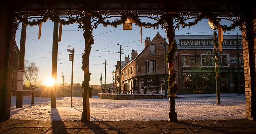
<path id="1" fill-rule="evenodd" d="M 81 121 L 90 121 L 90 104 L 89 104 L 89 55 L 91 51 L 91 44 L 93 42 L 91 33 L 91 14 L 85 14 L 83 18 L 83 29 L 84 29 L 84 39 L 85 39 L 85 53 L 83 54 L 82 69 L 84 71 L 84 81 L 82 83 L 82 88 L 84 89 L 82 93 L 83 97 L 83 112 Z"/>

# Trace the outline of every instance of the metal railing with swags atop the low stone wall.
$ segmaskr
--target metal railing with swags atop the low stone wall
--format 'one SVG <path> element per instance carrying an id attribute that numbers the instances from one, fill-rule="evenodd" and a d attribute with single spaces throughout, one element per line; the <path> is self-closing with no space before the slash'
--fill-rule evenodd
<path id="1" fill-rule="evenodd" d="M 155 90 L 155 89 L 153 90 L 152 89 L 152 88 L 156 88 L 156 87 L 159 87 L 159 89 L 158 90 Z M 136 87 L 136 88 L 140 88 L 140 87 Z M 123 90 L 123 89 L 126 89 L 126 90 Z M 127 90 L 127 89 L 129 89 L 129 90 Z M 151 92 L 152 95 L 153 95 L 154 93 L 157 93 L 157 92 L 159 92 L 159 90 L 161 90 L 161 94 L 163 94 L 162 85 L 161 86 L 148 86 L 147 85 L 147 86 L 144 87 L 144 89 L 142 91 L 139 91 L 141 89 L 138 89 L 138 90 L 135 89 L 135 87 L 115 87 L 114 89 L 112 87 L 107 87 L 107 88 L 100 89 L 99 93 L 117 93 L 119 90 L 122 91 L 123 94 L 127 94 L 127 93 L 135 94 L 135 93 L 138 93 L 138 95 L 139 95 L 139 93 L 144 92 L 144 91 L 146 91 L 146 94 Z"/>

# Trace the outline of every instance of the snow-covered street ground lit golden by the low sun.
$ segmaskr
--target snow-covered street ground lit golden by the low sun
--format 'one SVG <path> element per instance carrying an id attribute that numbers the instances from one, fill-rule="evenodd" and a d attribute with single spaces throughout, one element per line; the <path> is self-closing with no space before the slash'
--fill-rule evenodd
<path id="1" fill-rule="evenodd" d="M 198 95 L 177 95 L 193 97 Z M 176 99 L 178 120 L 215 120 L 246 118 L 245 95 L 221 94 L 222 106 L 215 106 L 216 94 L 199 95 L 201 98 Z M 211 97 L 212 96 L 212 97 Z M 23 97 L 23 108 L 16 108 L 16 97 L 11 99 L 11 119 L 22 120 L 81 120 L 82 97 L 57 98 L 57 108 L 50 108 L 50 98 L 35 97 L 35 105 L 30 106 L 31 98 Z M 147 100 L 106 100 L 93 96 L 90 99 L 91 121 L 127 120 L 167 120 L 169 99 Z"/>

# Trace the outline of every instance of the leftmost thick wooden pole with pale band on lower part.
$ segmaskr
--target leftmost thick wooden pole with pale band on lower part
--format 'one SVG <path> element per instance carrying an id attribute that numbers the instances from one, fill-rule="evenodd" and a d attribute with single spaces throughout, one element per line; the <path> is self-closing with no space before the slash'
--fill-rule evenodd
<path id="1" fill-rule="evenodd" d="M 26 29 L 27 29 L 27 26 L 22 23 L 21 36 L 20 36 L 20 50 L 19 50 L 19 69 L 18 69 L 18 76 L 17 76 L 16 108 L 21 108 L 23 106 L 23 78 L 24 78 Z"/>

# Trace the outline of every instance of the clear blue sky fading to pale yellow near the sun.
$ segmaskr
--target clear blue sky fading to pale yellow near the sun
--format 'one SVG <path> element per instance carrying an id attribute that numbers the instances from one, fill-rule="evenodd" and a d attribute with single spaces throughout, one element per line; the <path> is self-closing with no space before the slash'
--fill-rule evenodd
<path id="1" fill-rule="evenodd" d="M 108 19 L 110 21 L 116 18 Z M 154 20 L 141 18 L 142 22 L 151 22 Z M 190 20 L 191 21 L 191 20 Z M 175 31 L 175 35 L 212 35 L 210 26 L 208 25 L 208 19 L 203 19 L 197 25 L 190 28 L 180 28 Z M 231 21 L 221 20 L 221 25 L 229 26 Z M 38 78 L 36 81 L 41 84 L 45 84 L 47 78 L 51 77 L 52 68 L 52 39 L 53 39 L 53 22 L 48 20 L 42 24 L 41 38 L 38 40 L 39 26 L 27 26 L 26 31 L 26 47 L 25 47 L 25 60 L 35 62 L 39 67 Z M 91 74 L 90 85 L 99 85 L 100 77 L 105 77 L 105 58 L 107 59 L 106 65 L 106 84 L 112 83 L 111 72 L 115 71 L 115 65 L 120 60 L 120 45 L 122 44 L 123 53 L 122 61 L 125 55 L 129 55 L 131 58 L 132 50 L 137 50 L 138 53 L 144 49 L 144 40 L 146 37 L 153 39 L 154 36 L 160 33 L 161 36 L 166 36 L 165 30 L 159 29 L 146 29 L 142 28 L 142 43 L 140 42 L 140 27 L 133 24 L 132 30 L 122 30 L 122 25 L 117 28 L 112 26 L 104 27 L 99 24 L 98 28 L 93 29 L 94 45 L 91 47 L 91 53 L 89 57 L 89 71 Z M 189 34 L 188 34 L 189 33 Z M 227 31 L 223 35 L 241 35 L 239 28 L 235 31 Z M 16 42 L 18 48 L 20 48 L 20 34 L 21 25 L 16 31 Z M 167 39 L 166 39 L 167 41 Z M 71 47 L 67 47 L 67 46 Z M 58 69 L 57 69 L 57 83 L 61 84 L 62 72 L 64 75 L 64 82 L 71 83 L 71 68 L 72 61 L 69 61 L 69 52 L 67 49 L 75 49 L 74 56 L 74 71 L 73 71 L 73 83 L 82 83 L 83 71 L 82 66 L 82 53 L 84 52 L 84 37 L 83 30 L 79 29 L 77 24 L 64 25 L 62 28 L 62 39 L 58 43 Z M 60 54 L 61 53 L 61 54 Z M 40 82 L 39 82 L 40 81 Z M 104 81 L 103 81 L 104 84 Z"/>

